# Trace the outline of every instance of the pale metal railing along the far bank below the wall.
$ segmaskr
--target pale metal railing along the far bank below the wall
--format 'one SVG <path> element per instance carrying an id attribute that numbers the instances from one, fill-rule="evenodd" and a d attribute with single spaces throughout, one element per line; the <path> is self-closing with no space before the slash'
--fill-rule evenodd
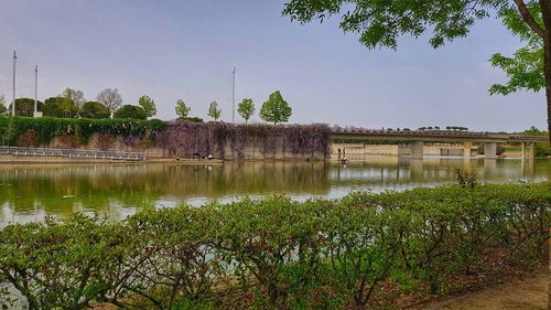
<path id="1" fill-rule="evenodd" d="M 116 152 L 116 151 L 94 151 L 94 150 L 73 150 L 73 149 L 50 149 L 50 148 L 21 148 L 2 147 L 0 154 L 13 156 L 39 156 L 39 157 L 67 157 L 83 159 L 101 160 L 145 160 L 144 152 Z"/>

